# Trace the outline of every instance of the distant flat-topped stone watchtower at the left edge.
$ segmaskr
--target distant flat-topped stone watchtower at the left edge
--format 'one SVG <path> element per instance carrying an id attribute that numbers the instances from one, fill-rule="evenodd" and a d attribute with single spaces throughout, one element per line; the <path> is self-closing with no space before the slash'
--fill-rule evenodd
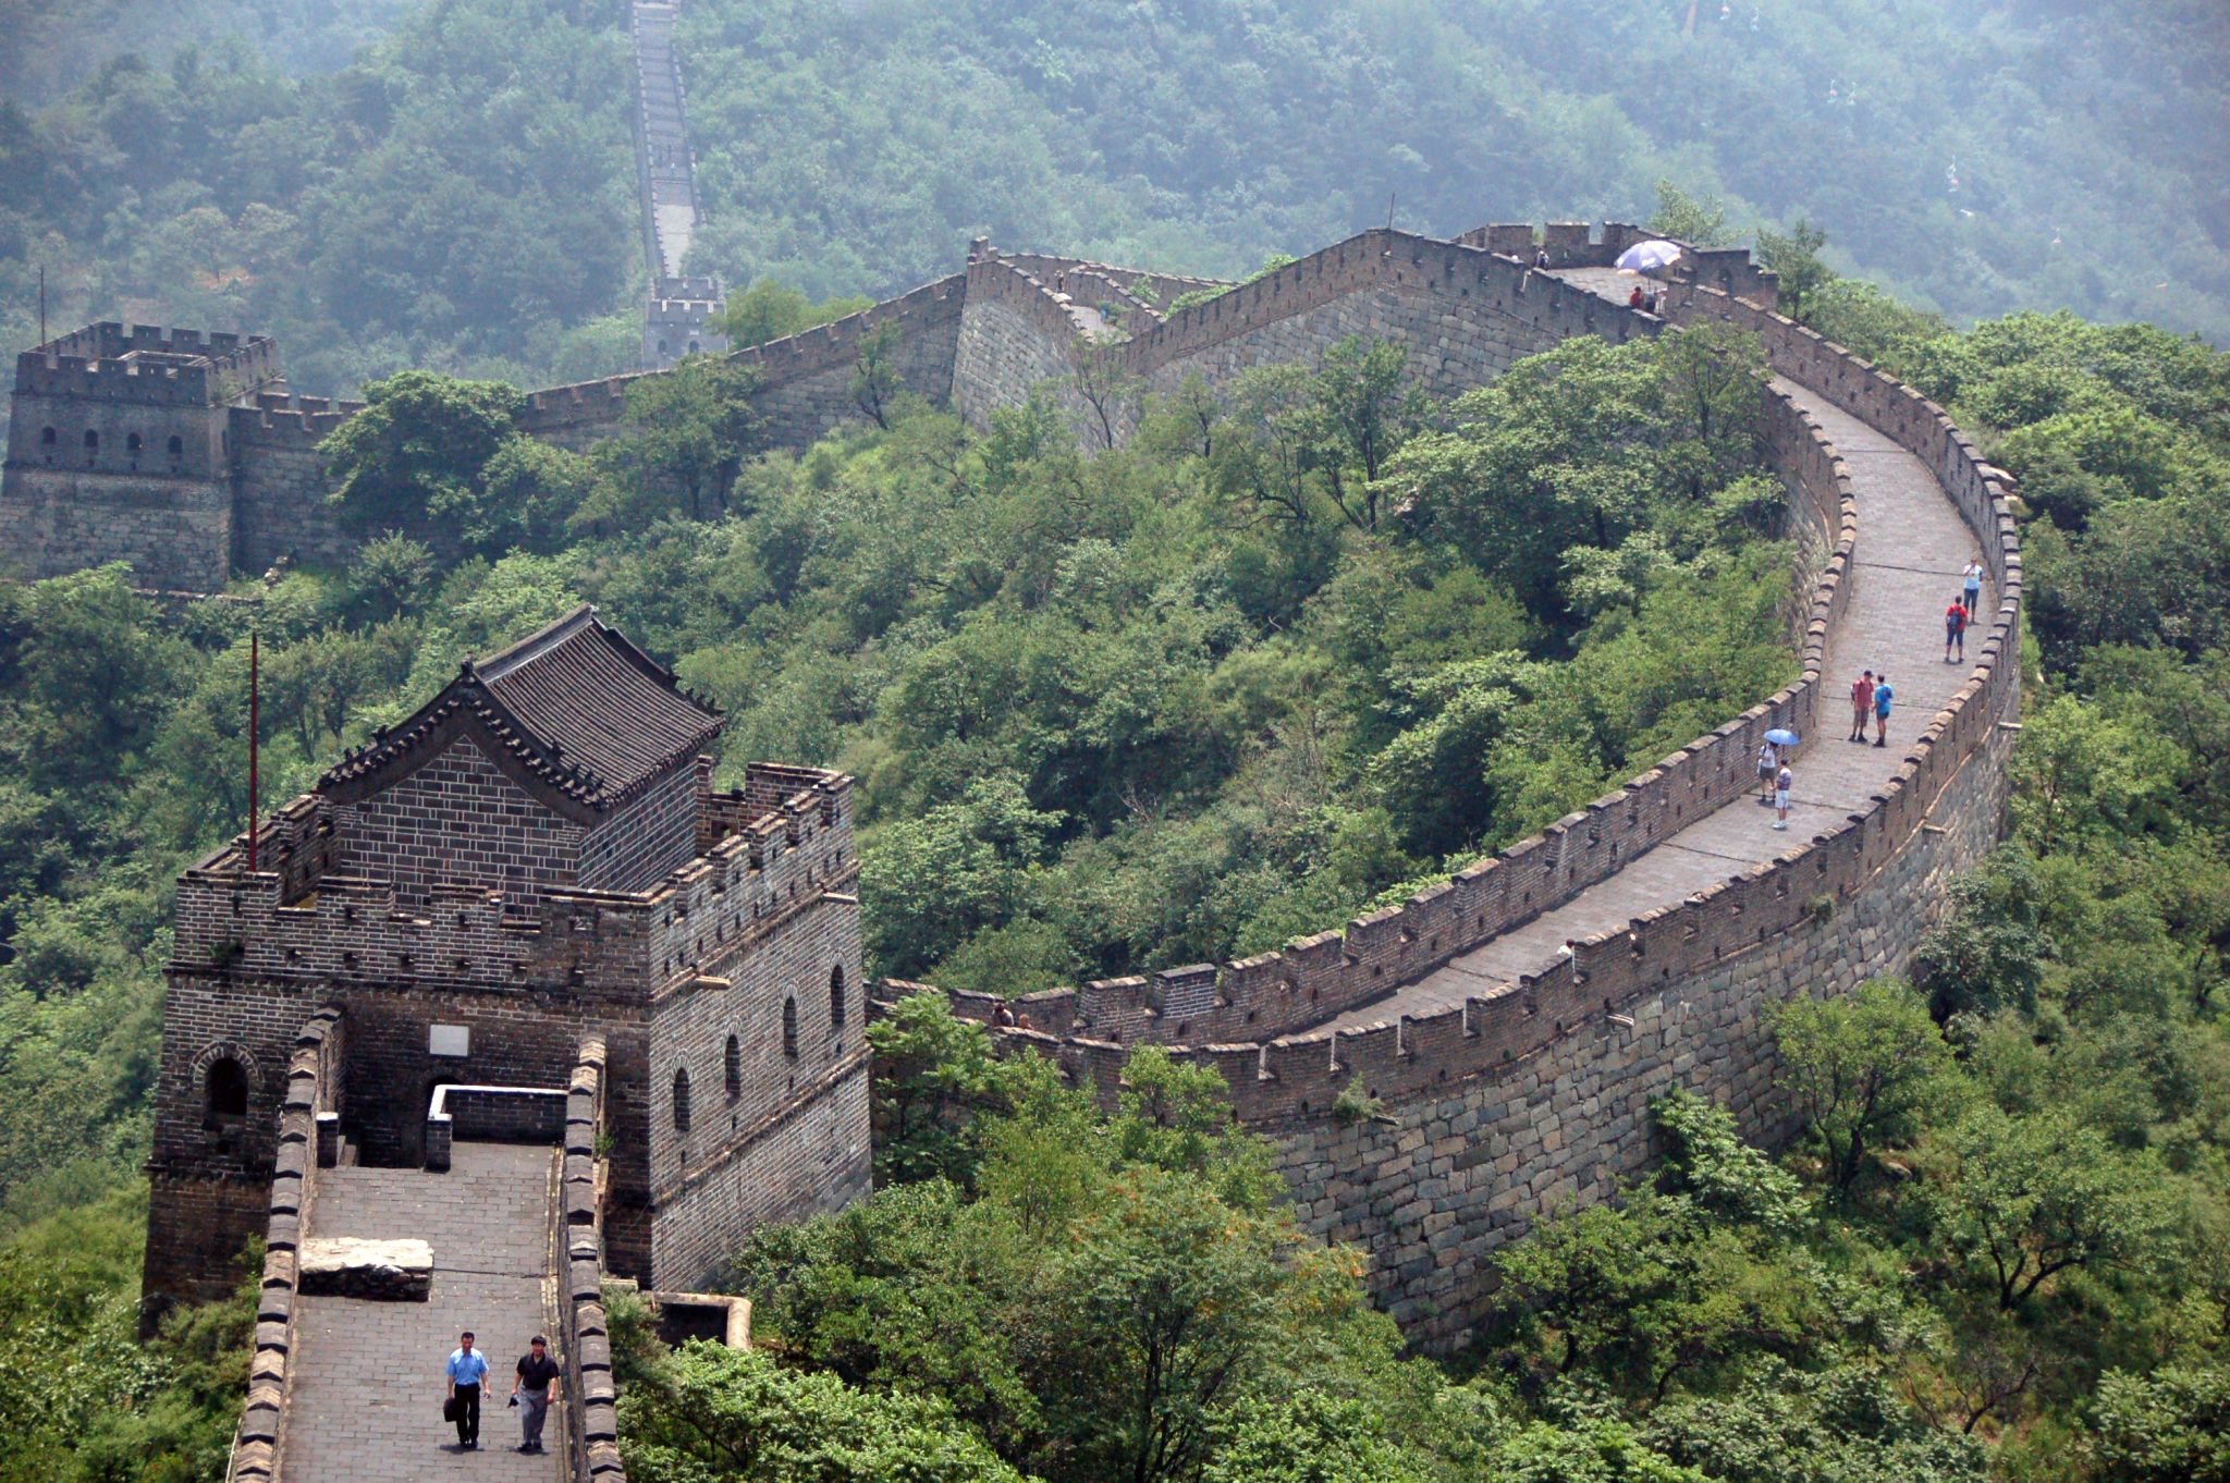
<path id="1" fill-rule="evenodd" d="M 0 560 L 49 578 L 132 562 L 216 591 L 232 562 L 232 406 L 279 381 L 261 335 L 96 323 L 16 357 Z"/>

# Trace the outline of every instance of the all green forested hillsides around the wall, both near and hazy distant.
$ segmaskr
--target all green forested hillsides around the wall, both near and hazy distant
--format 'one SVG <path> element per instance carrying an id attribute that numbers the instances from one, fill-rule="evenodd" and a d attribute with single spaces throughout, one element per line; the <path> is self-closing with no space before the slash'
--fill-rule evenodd
<path id="1" fill-rule="evenodd" d="M 1144 1050 L 1102 1115 L 908 1001 L 876 1195 L 734 1253 L 763 1343 L 669 1358 L 615 1305 L 638 1483 L 2230 1481 L 2230 357 L 2179 332 L 2230 326 L 2223 29 L 1456 9 L 691 0 L 698 265 L 881 292 L 988 227 L 1240 270 L 1387 192 L 1436 230 L 1811 216 L 1927 303 L 1777 230 L 1804 319 L 2018 479 L 2005 845 L 1911 981 L 1775 1017 L 1793 1146 L 1661 1099 L 1648 1177 L 1494 1253 L 1445 1365 L 1305 1235 L 1218 1075 Z M 118 566 L 0 578 L 0 1483 L 221 1476 L 254 1305 L 134 1336 L 138 1169 L 172 881 L 248 810 L 250 622 L 274 801 L 593 600 L 729 709 L 729 776 L 859 778 L 872 975 L 1004 992 L 1336 925 L 1793 671 L 1817 553 L 1739 337 L 1581 339 L 1452 404 L 1347 341 L 1097 455 L 1050 401 L 903 397 L 776 453 L 749 372 L 698 359 L 562 450 L 506 381 L 631 357 L 618 9 L 174 11 L 0 0 L 47 74 L 100 67 L 0 105 L 0 328 L 29 341 L 45 259 L 62 321 L 281 335 L 372 399 L 326 446 L 368 544 L 174 609 Z M 165 51 L 221 13 L 261 54 Z M 1945 317 L 2005 308 L 2038 312 Z"/>

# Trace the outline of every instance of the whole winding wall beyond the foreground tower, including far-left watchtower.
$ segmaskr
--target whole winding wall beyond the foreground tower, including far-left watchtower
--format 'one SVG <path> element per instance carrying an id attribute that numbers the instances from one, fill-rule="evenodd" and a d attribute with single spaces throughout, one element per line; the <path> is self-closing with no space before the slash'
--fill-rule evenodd
<path id="1" fill-rule="evenodd" d="M 1536 236 L 1545 268 L 1532 265 Z M 1626 341 L 1666 321 L 1730 321 L 1759 335 L 1775 372 L 1766 446 L 1788 479 L 1793 529 L 1824 553 L 1797 636 L 1804 669 L 1795 685 L 1400 910 L 1262 959 L 1059 990 L 1030 1006 L 1050 1030 L 1001 1033 L 1099 1086 L 1113 1084 L 1126 1046 L 1148 1039 L 1220 1068 L 1240 1115 L 1287 1151 L 1311 1229 L 1374 1256 L 1380 1296 L 1421 1343 L 1461 1336 L 1485 1258 L 1530 1211 L 1601 1198 L 1641 1166 L 1646 1099 L 1670 1082 L 1697 1084 L 1755 1133 L 1773 1133 L 1762 1010 L 1786 992 L 1831 992 L 1900 970 L 1942 876 L 1991 845 L 2003 805 L 2020 609 L 2003 475 L 1940 408 L 1775 314 L 1771 274 L 1744 254 L 1695 254 L 1668 288 L 1664 319 L 1606 297 L 1603 265 L 1635 236 L 1623 225 L 1592 234 L 1483 227 L 1452 241 L 1371 230 L 1173 314 L 1155 303 L 1198 281 L 979 243 L 959 274 L 736 357 L 760 372 L 754 399 L 772 439 L 801 446 L 859 417 L 850 381 L 861 341 L 885 326 L 885 352 L 923 397 L 981 424 L 1044 388 L 1070 406 L 1079 430 L 1097 421 L 1079 392 L 1082 357 L 1117 364 L 1146 390 L 1171 390 L 1191 375 L 1222 386 L 1249 366 L 1311 359 L 1345 335 L 1365 335 L 1403 346 L 1412 372 L 1447 397 L 1572 335 Z M 281 553 L 330 560 L 343 549 L 326 522 L 314 444 L 346 406 L 265 388 L 219 404 L 212 381 L 221 375 L 252 384 L 274 372 L 268 341 L 210 337 L 201 348 L 216 352 L 221 370 L 156 370 L 134 366 L 136 348 L 161 343 L 178 355 L 196 343 L 116 328 L 76 339 L 94 337 L 120 355 L 47 348 L 20 359 L 11 493 L 0 502 L 0 546 L 18 562 L 60 571 L 96 555 L 143 555 L 138 540 L 190 549 L 201 533 L 194 571 L 203 575 L 227 562 L 254 569 Z M 163 352 L 147 359 L 161 366 Z M 622 428 L 631 381 L 533 392 L 522 426 L 589 446 Z M 156 493 L 198 488 L 196 475 L 210 471 L 236 500 L 145 500 L 134 475 L 103 468 L 22 479 L 42 473 L 29 439 L 65 397 L 85 408 L 80 421 L 156 419 L 143 446 L 158 446 L 152 437 L 172 417 L 198 419 L 183 479 L 158 477 Z M 76 424 L 69 433 L 76 448 Z M 225 435 L 230 471 L 219 462 Z M 103 446 L 116 442 L 109 433 Z M 134 491 L 136 524 L 103 520 L 103 488 L 118 486 Z M 85 537 L 51 544 L 65 511 L 89 522 Z M 1933 578 L 1911 571 L 1916 522 L 1931 513 L 1936 531 L 1918 555 L 1933 562 Z M 1929 609 L 1900 611 L 1900 602 L 1949 591 L 1976 549 L 1998 607 L 1974 669 L 1902 658 L 1913 647 L 1900 620 Z M 1869 593 L 1884 600 L 1882 613 L 1869 611 Z M 1755 818 L 1726 823 L 1742 818 L 1728 810 L 1744 794 L 1757 738 L 1777 725 L 1806 738 L 1831 727 L 1835 705 L 1822 687 L 1860 662 L 1904 669 L 1898 749 L 1851 760 L 1809 747 L 1800 776 L 1833 783 L 1811 792 L 1833 805 L 1811 812 L 1809 834 L 1759 836 Z M 1869 776 L 1844 776 L 1869 767 Z M 1681 843 L 1699 827 L 1719 827 L 1733 847 Z M 1768 847 L 1788 839 L 1786 850 Z M 1668 861 L 1684 867 L 1668 870 Z M 1528 954 L 1463 968 L 1525 932 Z M 1443 988 L 1396 995 L 1427 977 Z M 1447 988 L 1456 981 L 1465 992 Z M 1336 1095 L 1356 1075 L 1394 1124 L 1334 1117 Z"/>

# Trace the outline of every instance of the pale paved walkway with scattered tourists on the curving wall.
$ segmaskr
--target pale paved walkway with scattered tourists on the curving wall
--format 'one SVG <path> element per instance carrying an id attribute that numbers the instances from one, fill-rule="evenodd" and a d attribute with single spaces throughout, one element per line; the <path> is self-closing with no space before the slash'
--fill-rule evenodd
<path id="1" fill-rule="evenodd" d="M 1619 303 L 1635 281 L 1608 270 L 1570 270 L 1559 277 L 1597 288 Z M 1942 662 L 1942 611 L 1960 589 L 1967 558 L 1976 553 L 1974 533 L 1951 497 L 1920 459 L 1820 392 L 1788 379 L 1775 379 L 1775 386 L 1826 428 L 1851 468 L 1858 500 L 1851 598 L 1842 624 L 1829 636 L 1820 731 L 1804 738 L 1791 763 L 1795 789 L 1788 832 L 1773 827 L 1773 810 L 1759 807 L 1753 792 L 1637 854 L 1626 870 L 1565 905 L 1503 932 L 1385 999 L 1327 1019 L 1325 1026 L 1356 1028 L 1463 1004 L 1523 972 L 1552 968 L 1565 941 L 1623 928 L 1650 908 L 1672 905 L 1713 881 L 1771 861 L 1862 810 L 1889 783 L 1936 711 L 1967 682 L 1976 653 L 1969 653 L 1969 665 Z M 1985 613 L 1996 611 L 1989 587 L 1980 607 Z M 1860 669 L 1887 673 L 1896 691 L 1887 747 L 1844 740 L 1849 687 Z"/>

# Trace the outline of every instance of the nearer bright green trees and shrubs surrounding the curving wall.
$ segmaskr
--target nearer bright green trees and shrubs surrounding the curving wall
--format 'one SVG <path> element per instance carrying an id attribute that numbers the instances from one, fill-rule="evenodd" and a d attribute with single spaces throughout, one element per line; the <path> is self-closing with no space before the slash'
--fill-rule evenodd
<path id="1" fill-rule="evenodd" d="M 2067 314 L 1813 303 L 2023 479 L 2032 698 L 2014 834 L 1913 986 L 1777 1024 L 1804 1142 L 1768 1162 L 1661 1104 L 1659 1173 L 1501 1253 L 1507 1300 L 1443 1369 L 1300 1238 L 1220 1079 L 1135 1059 L 1102 1122 L 921 1001 L 876 1033 L 885 1193 L 738 1253 L 780 1360 L 638 1356 L 636 1474 L 2221 1479 L 2230 364 Z M 511 426 L 511 388 L 384 381 L 330 448 L 343 502 L 466 553 L 388 537 L 245 584 L 265 787 L 593 598 L 734 707 L 729 765 L 859 774 L 870 970 L 1026 988 L 1244 952 L 1786 678 L 1744 381 L 1713 377 L 1710 439 L 1688 419 L 1695 357 L 1746 355 L 1574 341 L 1425 406 L 1349 343 L 1093 457 L 1044 408 L 972 433 L 910 404 L 758 455 L 711 364 L 571 455 Z M 1380 482 L 1365 424 L 1398 444 Z M 161 618 L 123 571 L 4 598 L 0 1429 L 40 1476 L 192 1476 L 245 1309 L 132 1347 L 132 1171 L 169 879 L 245 807 L 245 613 Z"/>

